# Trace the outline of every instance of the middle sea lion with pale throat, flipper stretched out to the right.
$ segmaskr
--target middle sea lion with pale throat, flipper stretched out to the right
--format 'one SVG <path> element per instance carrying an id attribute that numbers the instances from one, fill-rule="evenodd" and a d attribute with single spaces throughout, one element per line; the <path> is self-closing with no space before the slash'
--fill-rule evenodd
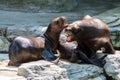
<path id="1" fill-rule="evenodd" d="M 65 35 L 65 33 L 62 33 L 60 36 L 60 46 L 58 47 L 62 59 L 68 60 L 73 63 L 87 63 L 100 67 L 104 66 L 104 58 L 106 57 L 106 55 L 101 58 L 93 57 L 92 59 L 90 59 L 83 52 L 77 50 L 78 44 L 76 41 L 67 42 L 66 39 L 67 36 Z"/>

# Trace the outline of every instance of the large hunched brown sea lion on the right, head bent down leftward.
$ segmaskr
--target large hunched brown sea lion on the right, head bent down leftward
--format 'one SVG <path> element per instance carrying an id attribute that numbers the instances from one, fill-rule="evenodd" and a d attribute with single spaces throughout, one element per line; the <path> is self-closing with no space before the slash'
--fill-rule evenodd
<path id="1" fill-rule="evenodd" d="M 67 41 L 77 41 L 79 50 L 89 58 L 98 49 L 105 48 L 106 53 L 114 54 L 111 44 L 109 27 L 100 19 L 85 16 L 82 20 L 71 23 L 66 31 Z"/>

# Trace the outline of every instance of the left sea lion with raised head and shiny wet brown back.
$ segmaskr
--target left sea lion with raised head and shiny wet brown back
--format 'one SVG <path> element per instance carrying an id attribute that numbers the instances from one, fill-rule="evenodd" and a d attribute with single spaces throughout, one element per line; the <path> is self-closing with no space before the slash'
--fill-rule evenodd
<path id="1" fill-rule="evenodd" d="M 19 66 L 21 63 L 40 60 L 58 59 L 54 56 L 59 44 L 59 35 L 66 26 L 65 17 L 57 17 L 48 25 L 46 32 L 40 37 L 16 37 L 9 47 L 9 63 Z"/>

